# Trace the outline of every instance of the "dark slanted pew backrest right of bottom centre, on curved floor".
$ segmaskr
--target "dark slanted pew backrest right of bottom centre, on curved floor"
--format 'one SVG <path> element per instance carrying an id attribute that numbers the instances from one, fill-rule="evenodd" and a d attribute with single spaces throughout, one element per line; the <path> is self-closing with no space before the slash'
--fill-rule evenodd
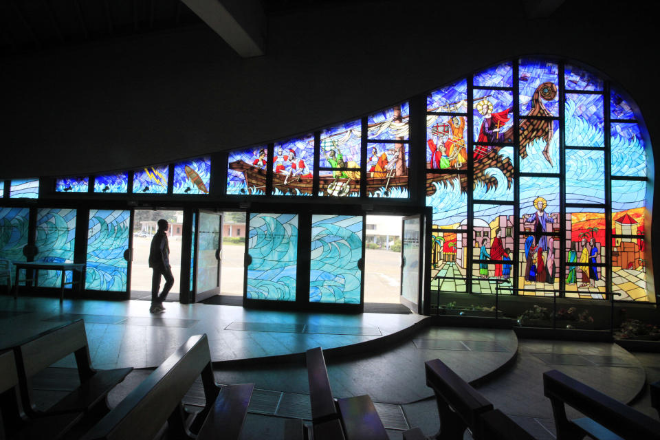
<path id="1" fill-rule="evenodd" d="M 465 382 L 439 359 L 425 362 L 426 385 L 437 399 L 443 399 L 474 432 L 476 416 L 493 409 L 485 397 Z"/>

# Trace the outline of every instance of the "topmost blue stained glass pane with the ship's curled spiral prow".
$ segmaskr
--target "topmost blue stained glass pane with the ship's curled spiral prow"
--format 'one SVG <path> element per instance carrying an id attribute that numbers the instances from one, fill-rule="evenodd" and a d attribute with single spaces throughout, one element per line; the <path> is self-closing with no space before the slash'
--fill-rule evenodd
<path id="1" fill-rule="evenodd" d="M 521 116 L 558 116 L 559 66 L 547 61 L 521 59 L 518 67 Z M 533 96 L 538 94 L 538 103 Z"/>

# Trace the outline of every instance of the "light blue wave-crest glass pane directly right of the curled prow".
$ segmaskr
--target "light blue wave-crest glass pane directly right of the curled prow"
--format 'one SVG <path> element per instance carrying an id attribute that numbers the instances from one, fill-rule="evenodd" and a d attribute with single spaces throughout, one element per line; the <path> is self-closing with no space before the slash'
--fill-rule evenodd
<path id="1" fill-rule="evenodd" d="M 604 146 L 603 96 L 566 94 L 566 145 Z"/>

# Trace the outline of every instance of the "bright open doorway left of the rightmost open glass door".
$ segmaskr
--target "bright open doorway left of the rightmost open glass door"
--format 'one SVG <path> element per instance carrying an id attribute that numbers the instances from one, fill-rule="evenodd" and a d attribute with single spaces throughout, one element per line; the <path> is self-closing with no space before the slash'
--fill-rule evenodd
<path id="1" fill-rule="evenodd" d="M 400 301 L 402 218 L 366 216 L 364 303 L 397 304 Z"/>

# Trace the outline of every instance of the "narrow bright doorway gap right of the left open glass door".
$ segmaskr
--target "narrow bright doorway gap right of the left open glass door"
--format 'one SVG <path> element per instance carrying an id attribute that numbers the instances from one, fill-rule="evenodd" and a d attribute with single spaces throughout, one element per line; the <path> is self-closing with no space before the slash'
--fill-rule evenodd
<path id="1" fill-rule="evenodd" d="M 243 296 L 245 212 L 223 212 L 220 292 Z"/>

